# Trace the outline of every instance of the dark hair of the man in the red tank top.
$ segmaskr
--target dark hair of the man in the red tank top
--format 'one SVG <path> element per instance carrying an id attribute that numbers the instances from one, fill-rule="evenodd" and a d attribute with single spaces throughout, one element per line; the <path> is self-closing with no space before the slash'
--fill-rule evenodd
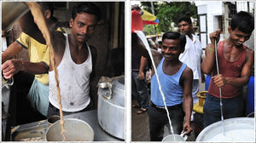
<path id="1" fill-rule="evenodd" d="M 230 26 L 232 31 L 237 27 L 239 31 L 251 33 L 254 29 L 254 17 L 252 14 L 241 11 L 233 16 Z"/>

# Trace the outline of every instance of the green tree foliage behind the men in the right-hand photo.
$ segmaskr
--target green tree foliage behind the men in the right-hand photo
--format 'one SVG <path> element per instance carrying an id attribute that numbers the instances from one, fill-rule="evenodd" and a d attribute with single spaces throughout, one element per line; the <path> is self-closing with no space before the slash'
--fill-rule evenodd
<path id="1" fill-rule="evenodd" d="M 142 2 L 141 4 L 143 9 L 151 12 L 150 2 Z M 157 26 L 158 31 L 171 31 L 173 28 L 172 23 L 177 24 L 177 20 L 181 16 L 196 18 L 196 6 L 194 2 L 154 2 L 153 4 L 154 14 L 160 20 Z"/>

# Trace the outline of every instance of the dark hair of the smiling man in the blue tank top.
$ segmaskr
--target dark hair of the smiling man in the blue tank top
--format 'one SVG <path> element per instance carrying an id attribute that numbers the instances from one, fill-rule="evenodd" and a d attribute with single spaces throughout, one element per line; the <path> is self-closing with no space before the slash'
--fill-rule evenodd
<path id="1" fill-rule="evenodd" d="M 179 45 L 180 48 L 183 50 L 185 49 L 186 45 L 186 36 L 177 32 L 177 31 L 167 31 L 163 37 L 162 37 L 162 42 L 164 42 L 165 39 L 174 39 L 174 40 L 179 40 Z"/>

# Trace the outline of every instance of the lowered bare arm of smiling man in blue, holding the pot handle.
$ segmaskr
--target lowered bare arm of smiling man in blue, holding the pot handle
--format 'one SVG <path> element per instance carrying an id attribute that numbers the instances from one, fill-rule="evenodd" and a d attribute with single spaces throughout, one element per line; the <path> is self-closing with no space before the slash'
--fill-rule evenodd
<path id="1" fill-rule="evenodd" d="M 183 131 L 186 131 L 186 134 L 192 131 L 190 126 L 190 117 L 192 112 L 192 81 L 193 81 L 193 72 L 187 66 L 182 74 L 180 84 L 183 86 L 183 109 L 185 112 L 185 123 L 183 124 Z"/>

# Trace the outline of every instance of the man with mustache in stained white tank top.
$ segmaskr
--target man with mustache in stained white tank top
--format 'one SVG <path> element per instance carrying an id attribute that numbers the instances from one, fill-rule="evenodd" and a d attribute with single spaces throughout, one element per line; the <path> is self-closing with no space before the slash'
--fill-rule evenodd
<path id="1" fill-rule="evenodd" d="M 94 3 L 80 3 L 73 8 L 69 21 L 72 32 L 64 35 L 61 32 L 52 32 L 63 115 L 93 109 L 90 81 L 95 76 L 96 49 L 86 42 L 101 19 L 101 10 Z M 55 73 L 49 67 L 48 117 L 59 115 L 60 112 Z"/>

